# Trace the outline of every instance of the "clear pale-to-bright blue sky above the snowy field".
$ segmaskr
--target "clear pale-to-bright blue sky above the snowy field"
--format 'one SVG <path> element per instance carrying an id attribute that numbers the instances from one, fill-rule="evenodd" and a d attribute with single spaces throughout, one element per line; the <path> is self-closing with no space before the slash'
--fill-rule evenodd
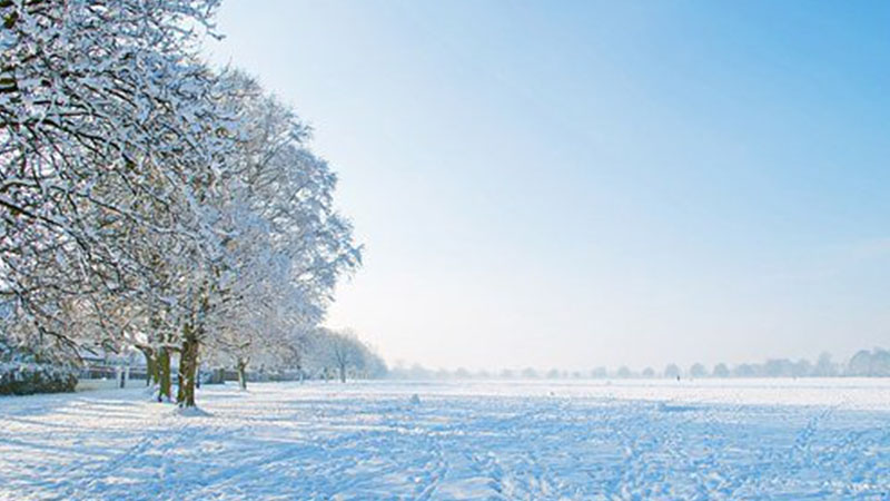
<path id="1" fill-rule="evenodd" d="M 366 245 L 328 324 L 431 367 L 890 346 L 890 2 L 228 0 Z"/>

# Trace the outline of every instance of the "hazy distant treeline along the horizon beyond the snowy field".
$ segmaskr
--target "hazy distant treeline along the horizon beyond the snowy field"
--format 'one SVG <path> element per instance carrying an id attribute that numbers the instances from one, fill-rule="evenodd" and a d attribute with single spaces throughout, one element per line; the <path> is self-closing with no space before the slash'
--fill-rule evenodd
<path id="1" fill-rule="evenodd" d="M 792 361 L 789 358 L 769 358 L 763 363 L 728 365 L 719 363 L 712 367 L 695 363 L 683 369 L 678 364 L 668 364 L 664 369 L 645 367 L 633 370 L 627 366 L 617 369 L 595 367 L 590 371 L 562 371 L 552 369 L 540 371 L 532 367 L 522 370 L 505 369 L 502 371 L 455 371 L 429 370 L 421 365 L 396 365 L 389 370 L 395 379 L 652 379 L 652 377 L 890 377 L 890 351 L 882 348 L 861 350 L 846 363 L 834 362 L 830 354 L 823 353 L 815 362 L 807 358 Z"/>

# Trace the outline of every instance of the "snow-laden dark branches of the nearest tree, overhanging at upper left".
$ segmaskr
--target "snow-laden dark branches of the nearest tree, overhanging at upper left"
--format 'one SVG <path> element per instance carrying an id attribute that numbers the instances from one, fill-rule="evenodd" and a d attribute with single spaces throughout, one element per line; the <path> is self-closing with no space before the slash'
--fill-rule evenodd
<path id="1" fill-rule="evenodd" d="M 194 188 L 226 140 L 194 56 L 216 3 L 0 2 L 0 296 L 40 341 L 78 344 L 72 297 L 151 291 L 135 228 L 200 242 Z"/>

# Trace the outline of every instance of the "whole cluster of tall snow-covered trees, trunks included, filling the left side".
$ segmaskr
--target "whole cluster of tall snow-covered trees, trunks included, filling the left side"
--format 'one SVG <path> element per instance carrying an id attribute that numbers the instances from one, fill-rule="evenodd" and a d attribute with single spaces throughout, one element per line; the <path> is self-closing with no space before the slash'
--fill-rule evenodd
<path id="1" fill-rule="evenodd" d="M 0 0 L 3 336 L 137 347 L 181 406 L 202 360 L 298 358 L 360 263 L 310 129 L 201 61 L 217 4 Z"/>

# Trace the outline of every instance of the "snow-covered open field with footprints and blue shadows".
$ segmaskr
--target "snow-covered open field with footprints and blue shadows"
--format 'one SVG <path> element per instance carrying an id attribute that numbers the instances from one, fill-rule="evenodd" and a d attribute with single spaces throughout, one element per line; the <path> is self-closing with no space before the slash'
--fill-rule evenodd
<path id="1" fill-rule="evenodd" d="M 267 383 L 199 402 L 2 397 L 0 499 L 890 499 L 888 380 Z"/>

